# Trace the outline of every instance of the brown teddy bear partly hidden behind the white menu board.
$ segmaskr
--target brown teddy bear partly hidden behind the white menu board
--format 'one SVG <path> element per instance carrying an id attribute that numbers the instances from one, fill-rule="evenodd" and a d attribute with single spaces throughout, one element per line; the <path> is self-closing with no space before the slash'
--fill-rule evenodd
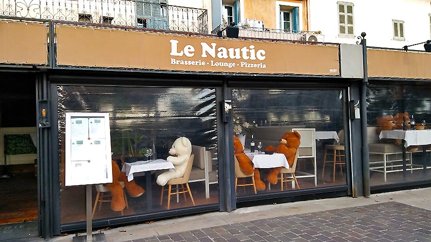
<path id="1" fill-rule="evenodd" d="M 126 173 L 121 172 L 117 163 L 112 160 L 112 183 L 108 183 L 107 186 L 111 191 L 111 209 L 114 211 L 123 211 L 126 207 L 123 188 L 120 182 L 124 182 L 127 194 L 131 197 L 138 197 L 145 192 L 134 180 L 127 181 Z"/>

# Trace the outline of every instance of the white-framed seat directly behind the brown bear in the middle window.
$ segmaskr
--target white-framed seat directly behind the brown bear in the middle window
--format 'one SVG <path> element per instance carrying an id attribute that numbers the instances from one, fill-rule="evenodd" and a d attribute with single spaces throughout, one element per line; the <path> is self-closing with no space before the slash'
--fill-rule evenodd
<path id="1" fill-rule="evenodd" d="M 301 135 L 301 144 L 299 145 L 297 153 L 298 159 L 310 158 L 313 162 L 313 173 L 303 171 L 296 171 L 298 175 L 296 178 L 314 177 L 314 186 L 317 186 L 317 169 L 316 169 L 316 129 L 293 128 L 292 132 L 297 131 Z"/>

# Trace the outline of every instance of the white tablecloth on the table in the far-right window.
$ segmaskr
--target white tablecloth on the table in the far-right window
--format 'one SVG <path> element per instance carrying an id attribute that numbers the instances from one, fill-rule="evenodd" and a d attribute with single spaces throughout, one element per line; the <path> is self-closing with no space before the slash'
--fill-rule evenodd
<path id="1" fill-rule="evenodd" d="M 383 130 L 380 139 L 402 139 L 405 146 L 431 144 L 431 130 Z"/>

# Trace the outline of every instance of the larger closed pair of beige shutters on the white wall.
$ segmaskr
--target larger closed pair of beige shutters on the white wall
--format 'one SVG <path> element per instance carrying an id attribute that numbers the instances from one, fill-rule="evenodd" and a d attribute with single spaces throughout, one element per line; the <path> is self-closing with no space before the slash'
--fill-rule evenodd
<path id="1" fill-rule="evenodd" d="M 337 2 L 338 6 L 338 34 L 354 37 L 353 4 Z"/>

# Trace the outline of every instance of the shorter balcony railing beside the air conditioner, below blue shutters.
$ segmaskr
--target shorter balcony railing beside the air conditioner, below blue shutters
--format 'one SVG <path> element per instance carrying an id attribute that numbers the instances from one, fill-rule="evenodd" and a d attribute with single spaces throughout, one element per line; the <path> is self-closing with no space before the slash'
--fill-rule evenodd
<path id="1" fill-rule="evenodd" d="M 211 33 L 217 34 L 219 30 L 224 30 L 226 24 L 221 24 L 213 29 Z M 238 37 L 245 38 L 264 38 L 264 39 L 281 39 L 287 41 L 309 41 L 310 35 L 318 36 L 320 39 L 316 41 L 323 42 L 323 35 L 319 31 L 305 31 L 305 30 L 284 30 L 284 29 L 271 29 L 271 28 L 258 28 L 249 26 L 236 26 L 239 28 Z M 226 31 L 223 31 L 226 36 Z"/>

